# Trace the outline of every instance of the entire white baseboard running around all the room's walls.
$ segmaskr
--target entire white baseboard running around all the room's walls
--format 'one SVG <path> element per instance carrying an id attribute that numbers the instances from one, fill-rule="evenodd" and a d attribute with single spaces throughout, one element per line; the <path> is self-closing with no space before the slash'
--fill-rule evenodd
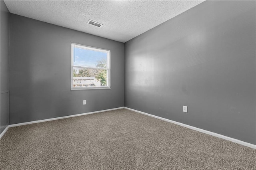
<path id="1" fill-rule="evenodd" d="M 44 119 L 44 120 L 39 120 L 39 121 L 32 121 L 32 122 L 25 122 L 25 123 L 18 123 L 18 124 L 13 124 L 13 125 L 8 125 L 8 127 L 6 127 L 4 129 L 4 131 L 0 134 L 0 138 L 5 134 L 5 132 L 8 130 L 8 128 L 10 127 L 17 127 L 17 126 L 22 126 L 22 125 L 29 125 L 29 124 L 34 124 L 34 123 L 40 123 L 40 122 L 47 122 L 47 121 L 54 121 L 54 120 L 58 120 L 58 119 L 66 119 L 66 118 L 70 118 L 70 117 L 77 117 L 77 116 L 83 116 L 83 115 L 90 115 L 90 114 L 94 114 L 94 113 L 101 113 L 101 112 L 106 112 L 106 111 L 113 111 L 113 110 L 118 110 L 118 109 L 128 109 L 130 111 L 134 111 L 134 112 L 137 112 L 137 113 L 141 113 L 143 115 L 147 115 L 147 116 L 150 116 L 150 117 L 154 117 L 156 119 L 161 119 L 163 121 L 167 121 L 167 122 L 170 122 L 170 123 L 174 123 L 176 125 L 180 125 L 180 126 L 183 126 L 183 127 L 186 127 L 186 128 L 190 128 L 192 130 L 196 130 L 196 131 L 199 131 L 199 132 L 202 132 L 202 133 L 206 133 L 206 134 L 210 134 L 212 136 L 215 136 L 215 137 L 218 137 L 218 138 L 222 138 L 222 139 L 226 139 L 226 140 L 229 140 L 231 142 L 235 142 L 235 143 L 238 143 L 238 144 L 242 144 L 244 146 L 248 146 L 250 148 L 253 148 L 253 149 L 256 149 L 256 145 L 255 144 L 251 144 L 251 143 L 248 143 L 248 142 L 244 142 L 242 140 L 238 140 L 238 139 L 235 139 L 235 138 L 230 138 L 228 136 L 224 136 L 222 134 L 218 134 L 218 133 L 214 133 L 214 132 L 210 132 L 208 130 L 204 130 L 204 129 L 201 129 L 201 128 L 197 128 L 197 127 L 192 127 L 190 125 L 186 125 L 186 124 L 183 124 L 183 123 L 179 123 L 179 122 L 176 122 L 176 121 L 172 121 L 172 120 L 169 120 L 169 119 L 165 119 L 165 118 L 162 118 L 162 117 L 158 117 L 158 116 L 155 116 L 155 115 L 151 115 L 151 114 L 148 114 L 148 113 L 145 113 L 145 112 L 142 112 L 142 111 L 137 111 L 135 109 L 130 109 L 128 107 L 118 107 L 118 108 L 113 108 L 113 109 L 106 109 L 106 110 L 102 110 L 102 111 L 95 111 L 95 112 L 88 112 L 88 113 L 81 113 L 81 114 L 77 114 L 77 115 L 70 115 L 70 116 L 64 116 L 64 117 L 56 117 L 56 118 L 51 118 L 51 119 Z"/>

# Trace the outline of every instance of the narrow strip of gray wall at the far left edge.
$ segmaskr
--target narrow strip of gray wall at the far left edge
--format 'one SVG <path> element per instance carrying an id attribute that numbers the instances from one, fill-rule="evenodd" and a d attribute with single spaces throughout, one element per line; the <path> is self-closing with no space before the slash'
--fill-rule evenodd
<path id="1" fill-rule="evenodd" d="M 1 6 L 1 55 L 0 55 L 0 124 L 2 132 L 9 125 L 9 16 L 10 13 L 4 4 L 0 1 Z"/>

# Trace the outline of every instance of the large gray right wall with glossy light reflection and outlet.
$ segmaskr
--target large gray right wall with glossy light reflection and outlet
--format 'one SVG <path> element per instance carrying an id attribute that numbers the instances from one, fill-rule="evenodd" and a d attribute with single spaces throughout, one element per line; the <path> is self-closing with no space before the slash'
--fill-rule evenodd
<path id="1" fill-rule="evenodd" d="M 206 1 L 126 42 L 125 106 L 256 144 L 255 20 Z"/>

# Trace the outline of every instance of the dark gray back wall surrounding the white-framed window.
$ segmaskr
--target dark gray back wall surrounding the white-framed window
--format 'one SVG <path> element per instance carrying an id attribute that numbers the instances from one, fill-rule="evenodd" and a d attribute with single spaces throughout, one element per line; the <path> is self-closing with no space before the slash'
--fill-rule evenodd
<path id="1" fill-rule="evenodd" d="M 71 42 L 111 50 L 111 89 L 70 91 Z M 124 43 L 11 14 L 10 124 L 123 106 Z"/>

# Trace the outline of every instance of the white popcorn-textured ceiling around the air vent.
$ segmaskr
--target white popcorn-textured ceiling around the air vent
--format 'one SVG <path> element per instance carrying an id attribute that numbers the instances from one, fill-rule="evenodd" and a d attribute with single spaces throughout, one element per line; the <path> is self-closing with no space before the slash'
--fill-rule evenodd
<path id="1" fill-rule="evenodd" d="M 203 1 L 4 0 L 4 2 L 13 14 L 127 42 Z M 103 26 L 98 28 L 89 25 L 87 24 L 89 19 Z"/>

